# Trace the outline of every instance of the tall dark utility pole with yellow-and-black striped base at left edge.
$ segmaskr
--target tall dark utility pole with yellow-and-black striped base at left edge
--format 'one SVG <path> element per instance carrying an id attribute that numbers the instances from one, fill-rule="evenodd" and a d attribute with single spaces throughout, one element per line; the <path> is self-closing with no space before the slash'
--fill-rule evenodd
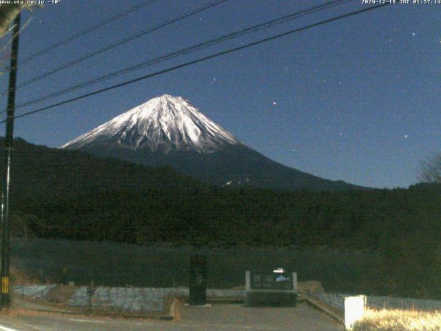
<path id="1" fill-rule="evenodd" d="M 11 172 L 12 139 L 14 139 L 15 87 L 19 55 L 20 14 L 14 19 L 12 32 L 11 61 L 9 72 L 8 110 L 6 117 L 5 152 L 3 157 L 3 181 L 1 194 L 1 308 L 8 308 L 9 297 L 9 264 L 10 264 L 10 220 L 9 189 Z"/>

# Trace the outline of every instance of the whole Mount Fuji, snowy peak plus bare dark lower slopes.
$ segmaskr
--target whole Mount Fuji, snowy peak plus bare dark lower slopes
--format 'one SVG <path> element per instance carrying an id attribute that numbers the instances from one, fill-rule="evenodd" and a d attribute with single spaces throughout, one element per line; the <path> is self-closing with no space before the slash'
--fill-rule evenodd
<path id="1" fill-rule="evenodd" d="M 282 190 L 351 190 L 272 161 L 241 143 L 182 97 L 164 94 L 61 146 L 132 163 L 171 166 L 223 186 Z"/>

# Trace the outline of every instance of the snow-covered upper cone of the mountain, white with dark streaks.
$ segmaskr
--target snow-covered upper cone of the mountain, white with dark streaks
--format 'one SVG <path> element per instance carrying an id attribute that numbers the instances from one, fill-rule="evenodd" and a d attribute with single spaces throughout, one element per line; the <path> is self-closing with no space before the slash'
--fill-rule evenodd
<path id="1" fill-rule="evenodd" d="M 131 150 L 148 148 L 151 152 L 210 153 L 240 144 L 240 141 L 187 100 L 164 94 L 86 132 L 61 148 L 79 149 L 97 143 Z"/>

